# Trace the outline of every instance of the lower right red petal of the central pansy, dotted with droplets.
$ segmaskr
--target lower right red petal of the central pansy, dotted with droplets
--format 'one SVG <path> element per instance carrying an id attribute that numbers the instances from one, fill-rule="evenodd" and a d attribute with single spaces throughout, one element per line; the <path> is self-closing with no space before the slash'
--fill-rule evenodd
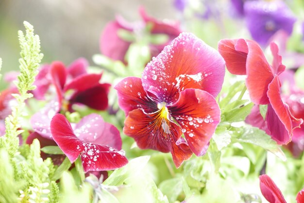
<path id="1" fill-rule="evenodd" d="M 181 126 L 192 152 L 197 156 L 203 155 L 204 147 L 220 122 L 217 101 L 203 90 L 186 89 L 168 110 Z"/>

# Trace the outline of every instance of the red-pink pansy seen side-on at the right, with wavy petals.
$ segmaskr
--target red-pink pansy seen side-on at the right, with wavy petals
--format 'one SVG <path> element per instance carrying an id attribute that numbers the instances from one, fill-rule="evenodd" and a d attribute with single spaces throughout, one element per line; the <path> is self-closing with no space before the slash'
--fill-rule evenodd
<path id="1" fill-rule="evenodd" d="M 267 104 L 267 133 L 278 144 L 287 144 L 291 140 L 292 130 L 300 126 L 302 119 L 294 118 L 287 104 L 281 99 L 281 83 L 278 75 L 285 70 L 278 47 L 270 43 L 273 61 L 270 65 L 259 45 L 252 40 L 225 39 L 219 42 L 219 52 L 226 61 L 227 69 L 236 75 L 247 75 L 246 86 L 254 104 Z M 257 109 L 253 113 L 259 114 Z M 258 115 L 251 115 L 256 117 Z M 253 126 L 256 120 L 247 119 Z M 260 127 L 261 128 L 261 127 Z"/>

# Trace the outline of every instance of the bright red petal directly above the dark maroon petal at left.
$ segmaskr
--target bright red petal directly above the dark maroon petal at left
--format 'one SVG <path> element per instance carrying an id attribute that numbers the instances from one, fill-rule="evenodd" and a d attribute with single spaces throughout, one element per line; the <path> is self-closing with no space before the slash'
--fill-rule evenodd
<path id="1" fill-rule="evenodd" d="M 102 74 L 83 74 L 65 85 L 64 91 L 74 89 L 75 91 L 84 91 L 99 84 Z"/>

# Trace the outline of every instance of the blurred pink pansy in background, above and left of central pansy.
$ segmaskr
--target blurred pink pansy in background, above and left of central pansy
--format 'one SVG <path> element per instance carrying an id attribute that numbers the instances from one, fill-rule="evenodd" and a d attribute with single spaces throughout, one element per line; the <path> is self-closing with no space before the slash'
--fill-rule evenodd
<path id="1" fill-rule="evenodd" d="M 129 32 L 138 33 L 138 30 L 144 29 L 147 24 L 152 25 L 151 34 L 167 34 L 169 39 L 161 45 L 150 45 L 152 56 L 156 56 L 163 48 L 168 45 L 180 33 L 180 26 L 175 21 L 160 21 L 153 17 L 149 17 L 144 8 L 139 8 L 139 14 L 142 21 L 135 23 L 128 23 L 122 17 L 116 17 L 116 20 L 109 22 L 100 38 L 101 53 L 113 60 L 120 60 L 125 62 L 124 58 L 129 46 L 132 42 L 125 41 L 118 36 L 118 30 L 123 29 Z"/>

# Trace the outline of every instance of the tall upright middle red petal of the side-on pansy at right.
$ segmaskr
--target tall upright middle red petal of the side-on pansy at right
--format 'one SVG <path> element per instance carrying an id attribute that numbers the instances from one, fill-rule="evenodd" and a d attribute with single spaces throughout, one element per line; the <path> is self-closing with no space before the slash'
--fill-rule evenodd
<path id="1" fill-rule="evenodd" d="M 249 96 L 254 104 L 268 104 L 268 85 L 273 79 L 273 74 L 263 51 L 259 45 L 247 40 L 248 55 L 246 63 L 246 86 Z"/>

